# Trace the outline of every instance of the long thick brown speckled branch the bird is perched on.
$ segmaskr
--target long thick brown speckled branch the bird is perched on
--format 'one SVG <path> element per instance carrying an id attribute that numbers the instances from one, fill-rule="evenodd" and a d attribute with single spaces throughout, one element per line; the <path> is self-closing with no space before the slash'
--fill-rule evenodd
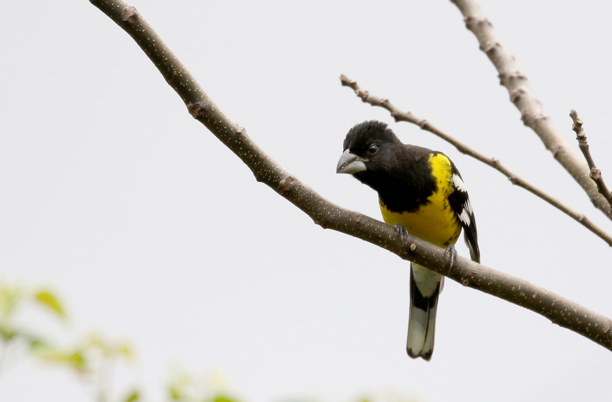
<path id="1" fill-rule="evenodd" d="M 612 351 L 610 319 L 581 307 L 528 281 L 457 258 L 449 269 L 444 250 L 417 237 L 403 241 L 385 223 L 339 207 L 289 174 L 260 149 L 244 128 L 230 121 L 201 89 L 195 78 L 171 53 L 134 7 L 121 0 L 90 0 L 125 30 L 149 56 L 168 84 L 181 96 L 187 110 L 231 149 L 255 174 L 255 178 L 304 211 L 323 228 L 378 245 L 408 261 L 435 270 L 470 288 L 535 311 L 559 326 L 580 333 Z"/>

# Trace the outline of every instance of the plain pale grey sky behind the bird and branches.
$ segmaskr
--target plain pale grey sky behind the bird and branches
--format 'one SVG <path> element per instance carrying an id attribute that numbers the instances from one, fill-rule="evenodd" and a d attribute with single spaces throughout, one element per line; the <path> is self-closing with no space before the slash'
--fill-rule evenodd
<path id="1" fill-rule="evenodd" d="M 611 251 L 501 174 L 340 86 L 372 93 L 502 160 L 608 232 L 520 121 L 455 6 L 436 1 L 132 2 L 218 106 L 321 195 L 379 218 L 335 174 L 346 131 L 389 122 L 446 152 L 468 185 L 482 262 L 612 316 Z M 604 1 L 482 0 L 572 145 L 576 108 L 612 182 L 612 59 Z M 2 2 L 0 280 L 48 286 L 53 336 L 129 340 L 159 400 L 172 367 L 220 373 L 245 401 L 595 400 L 612 355 L 535 313 L 447 281 L 431 362 L 405 352 L 408 264 L 316 226 L 192 119 L 130 37 L 86 0 Z M 458 251 L 465 255 L 465 246 Z M 88 401 L 69 373 L 26 361 L 2 401 Z"/>

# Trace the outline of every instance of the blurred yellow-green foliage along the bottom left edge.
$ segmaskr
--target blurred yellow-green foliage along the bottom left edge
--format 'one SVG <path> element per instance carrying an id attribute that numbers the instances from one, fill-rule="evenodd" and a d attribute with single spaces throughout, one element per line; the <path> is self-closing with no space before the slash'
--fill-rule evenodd
<path id="1" fill-rule="evenodd" d="M 65 322 L 67 315 L 62 303 L 47 289 L 28 291 L 18 286 L 0 284 L 0 375 L 6 365 L 6 357 L 13 349 L 25 349 L 29 356 L 41 362 L 52 363 L 73 371 L 76 381 L 85 382 L 92 389 L 92 401 L 135 402 L 149 400 L 136 387 L 127 392 L 113 391 L 111 374 L 116 365 L 134 359 L 132 346 L 124 341 L 110 341 L 102 335 L 87 335 L 73 346 L 57 346 L 49 341 L 44 330 L 36 329 L 32 323 L 24 325 L 23 313 L 37 309 L 58 323 Z M 34 329 L 32 329 L 32 327 Z M 42 335 L 41 335 L 42 333 Z M 17 364 L 18 362 L 11 362 Z M 104 380 L 106 379 L 106 381 Z M 165 400 L 177 402 L 240 402 L 225 392 L 225 380 L 215 374 L 201 378 L 181 370 L 173 370 L 166 387 Z M 111 396 L 111 395 L 119 396 Z M 50 395 L 53 399 L 53 395 Z M 157 400 L 157 398 L 154 398 Z M 292 398 L 291 401 L 305 401 Z M 310 400 L 308 400 L 310 401 Z M 379 395 L 376 398 L 361 398 L 359 402 L 414 402 L 395 394 Z"/>

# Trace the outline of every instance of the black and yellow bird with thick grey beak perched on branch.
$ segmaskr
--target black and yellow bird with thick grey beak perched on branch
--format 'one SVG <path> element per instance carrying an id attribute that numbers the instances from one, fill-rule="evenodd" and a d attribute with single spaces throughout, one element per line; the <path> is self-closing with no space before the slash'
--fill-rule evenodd
<path id="1" fill-rule="evenodd" d="M 402 143 L 389 126 L 354 125 L 343 144 L 337 173 L 353 175 L 378 192 L 387 225 L 452 251 L 463 229 L 472 261 L 480 262 L 476 220 L 461 174 L 442 152 Z M 411 262 L 406 352 L 429 361 L 444 277 Z"/>

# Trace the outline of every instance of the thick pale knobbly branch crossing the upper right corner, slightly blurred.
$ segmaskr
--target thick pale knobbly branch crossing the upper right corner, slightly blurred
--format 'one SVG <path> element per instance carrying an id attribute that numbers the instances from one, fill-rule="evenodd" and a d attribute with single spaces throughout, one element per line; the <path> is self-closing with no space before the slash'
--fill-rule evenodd
<path id="1" fill-rule="evenodd" d="M 478 4 L 473 0 L 450 1 L 463 14 L 465 26 L 478 39 L 480 50 L 487 54 L 498 70 L 499 83 L 508 90 L 510 100 L 521 112 L 521 120 L 524 125 L 531 128 L 540 137 L 546 149 L 552 152 L 553 157 L 578 182 L 593 205 L 612 219 L 610 204 L 599 194 L 597 186 L 585 174 L 584 162 L 571 151 L 572 147 L 555 127 L 550 117 L 544 115 L 542 103 L 535 98 L 526 76 L 518 69 L 518 64 L 513 56 L 502 46 L 493 25 L 487 20 Z"/>

